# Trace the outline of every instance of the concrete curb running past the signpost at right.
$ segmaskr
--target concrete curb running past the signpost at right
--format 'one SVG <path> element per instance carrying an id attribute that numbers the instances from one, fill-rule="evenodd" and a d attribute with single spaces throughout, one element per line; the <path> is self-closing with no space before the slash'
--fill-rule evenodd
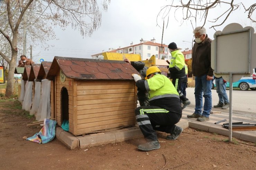
<path id="1" fill-rule="evenodd" d="M 218 125 L 209 125 L 209 124 L 203 124 L 202 122 L 189 121 L 189 127 L 205 130 L 205 131 L 212 132 L 212 133 L 222 134 L 225 136 L 229 135 L 228 129 L 222 128 Z M 233 131 L 232 137 L 250 141 L 250 142 L 256 142 L 256 136 L 247 131 Z"/>

